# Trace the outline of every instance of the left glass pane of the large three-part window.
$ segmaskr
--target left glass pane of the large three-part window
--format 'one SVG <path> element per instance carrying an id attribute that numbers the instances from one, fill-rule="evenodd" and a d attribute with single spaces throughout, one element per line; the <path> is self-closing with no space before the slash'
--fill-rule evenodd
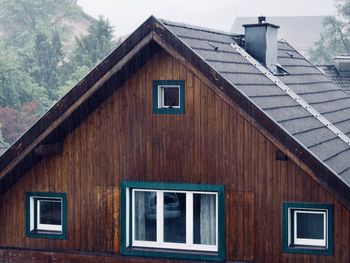
<path id="1" fill-rule="evenodd" d="M 157 239 L 157 194 L 135 191 L 135 240 Z"/>

